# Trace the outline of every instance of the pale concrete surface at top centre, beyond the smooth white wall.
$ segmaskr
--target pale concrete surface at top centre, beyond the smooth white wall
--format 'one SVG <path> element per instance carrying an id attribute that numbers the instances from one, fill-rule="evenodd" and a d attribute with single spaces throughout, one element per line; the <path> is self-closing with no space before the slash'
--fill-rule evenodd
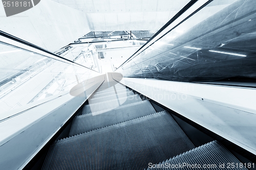
<path id="1" fill-rule="evenodd" d="M 189 0 L 52 0 L 83 11 L 91 31 L 159 30 Z"/>

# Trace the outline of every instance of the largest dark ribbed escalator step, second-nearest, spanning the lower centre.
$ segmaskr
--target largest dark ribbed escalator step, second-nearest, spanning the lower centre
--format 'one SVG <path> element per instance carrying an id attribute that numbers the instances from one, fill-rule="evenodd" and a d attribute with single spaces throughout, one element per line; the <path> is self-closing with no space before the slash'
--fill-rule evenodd
<path id="1" fill-rule="evenodd" d="M 144 169 L 195 148 L 165 111 L 56 141 L 42 170 Z"/>

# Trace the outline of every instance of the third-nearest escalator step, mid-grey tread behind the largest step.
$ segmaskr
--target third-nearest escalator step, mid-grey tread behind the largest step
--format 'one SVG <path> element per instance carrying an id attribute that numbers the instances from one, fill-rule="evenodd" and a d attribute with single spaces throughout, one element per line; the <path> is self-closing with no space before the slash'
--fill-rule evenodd
<path id="1" fill-rule="evenodd" d="M 156 113 L 149 101 L 141 101 L 123 105 L 112 110 L 83 114 L 76 116 L 70 129 L 69 136 L 88 132 L 94 129 L 121 123 L 126 120 Z M 94 115 L 94 116 L 93 116 Z"/>

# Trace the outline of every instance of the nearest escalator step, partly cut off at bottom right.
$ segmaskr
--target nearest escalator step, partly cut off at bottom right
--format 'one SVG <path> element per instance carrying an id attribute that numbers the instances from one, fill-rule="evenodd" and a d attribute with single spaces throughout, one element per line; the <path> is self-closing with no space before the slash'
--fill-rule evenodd
<path id="1" fill-rule="evenodd" d="M 231 163 L 235 165 L 231 169 L 247 169 L 233 154 L 223 147 L 221 143 L 218 141 L 212 141 L 163 163 L 159 163 L 158 165 L 151 165 L 148 167 L 148 170 L 174 169 L 175 165 L 180 165 L 179 163 L 184 163 L 184 166 L 177 166 L 178 168 L 175 169 L 229 169 L 231 168 Z M 223 165 L 223 163 L 224 166 L 220 166 L 220 164 Z M 195 167 L 195 165 L 197 167 Z"/>

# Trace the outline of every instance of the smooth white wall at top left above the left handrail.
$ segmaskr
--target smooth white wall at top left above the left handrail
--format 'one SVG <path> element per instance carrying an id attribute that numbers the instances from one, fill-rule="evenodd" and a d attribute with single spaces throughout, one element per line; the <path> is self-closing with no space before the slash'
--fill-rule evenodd
<path id="1" fill-rule="evenodd" d="M 0 5 L 0 30 L 52 52 L 90 32 L 86 14 L 50 0 L 10 17 Z"/>

